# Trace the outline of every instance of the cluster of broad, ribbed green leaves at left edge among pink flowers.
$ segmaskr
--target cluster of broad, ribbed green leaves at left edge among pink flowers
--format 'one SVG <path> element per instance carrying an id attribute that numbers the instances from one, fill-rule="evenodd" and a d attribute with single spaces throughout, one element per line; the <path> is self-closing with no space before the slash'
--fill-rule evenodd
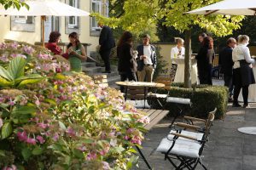
<path id="1" fill-rule="evenodd" d="M 0 65 L 0 86 L 20 87 L 30 83 L 40 82 L 44 79 L 38 74 L 24 74 L 26 59 L 16 57 L 9 62 L 7 70 Z"/>

